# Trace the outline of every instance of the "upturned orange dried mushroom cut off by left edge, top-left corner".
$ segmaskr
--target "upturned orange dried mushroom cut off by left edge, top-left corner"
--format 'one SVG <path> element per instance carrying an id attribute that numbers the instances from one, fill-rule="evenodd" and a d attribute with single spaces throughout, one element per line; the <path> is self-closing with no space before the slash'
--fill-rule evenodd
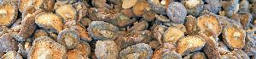
<path id="1" fill-rule="evenodd" d="M 18 9 L 15 3 L 3 1 L 0 3 L 0 26 L 10 26 L 17 18 Z"/>

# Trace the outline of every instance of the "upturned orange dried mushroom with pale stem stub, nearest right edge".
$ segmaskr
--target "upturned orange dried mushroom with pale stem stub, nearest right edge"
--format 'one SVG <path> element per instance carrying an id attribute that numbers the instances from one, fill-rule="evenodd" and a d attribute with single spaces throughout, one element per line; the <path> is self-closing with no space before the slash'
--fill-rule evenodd
<path id="1" fill-rule="evenodd" d="M 241 49 L 245 46 L 245 30 L 241 30 L 234 25 L 226 26 L 223 30 L 224 43 L 230 49 Z"/>

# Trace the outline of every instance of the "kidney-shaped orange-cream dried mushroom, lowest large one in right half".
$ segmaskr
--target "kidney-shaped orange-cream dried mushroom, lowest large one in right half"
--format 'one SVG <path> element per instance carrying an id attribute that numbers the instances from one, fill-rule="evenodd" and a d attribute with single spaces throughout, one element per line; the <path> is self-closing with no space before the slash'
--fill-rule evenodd
<path id="1" fill-rule="evenodd" d="M 184 56 L 189 52 L 201 50 L 205 46 L 206 40 L 197 35 L 183 37 L 177 42 L 177 53 Z"/>

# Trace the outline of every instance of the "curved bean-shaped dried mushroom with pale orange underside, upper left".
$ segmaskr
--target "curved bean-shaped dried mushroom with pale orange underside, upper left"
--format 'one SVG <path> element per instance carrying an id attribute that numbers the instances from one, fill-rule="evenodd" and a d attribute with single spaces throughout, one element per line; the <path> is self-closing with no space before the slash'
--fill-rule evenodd
<path id="1" fill-rule="evenodd" d="M 51 30 L 55 33 L 59 33 L 61 30 L 63 30 L 61 17 L 55 13 L 38 14 L 35 18 L 35 23 L 38 24 L 39 27 L 46 30 Z"/>

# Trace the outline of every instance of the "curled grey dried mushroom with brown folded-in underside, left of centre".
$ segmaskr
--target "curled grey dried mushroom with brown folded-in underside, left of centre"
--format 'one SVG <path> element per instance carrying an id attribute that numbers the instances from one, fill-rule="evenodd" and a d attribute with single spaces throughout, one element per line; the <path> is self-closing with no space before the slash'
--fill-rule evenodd
<path id="1" fill-rule="evenodd" d="M 94 40 L 113 40 L 119 28 L 103 21 L 93 21 L 87 28 L 90 37 Z"/>

